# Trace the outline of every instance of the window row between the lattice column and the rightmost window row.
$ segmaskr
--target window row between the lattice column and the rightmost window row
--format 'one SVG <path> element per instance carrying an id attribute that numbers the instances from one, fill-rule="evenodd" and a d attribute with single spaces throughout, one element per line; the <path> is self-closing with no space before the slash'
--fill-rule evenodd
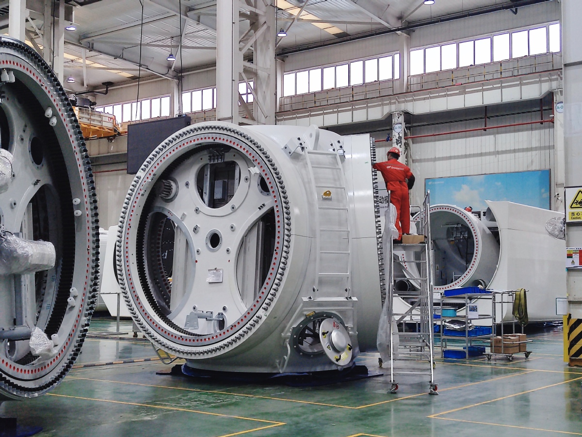
<path id="1" fill-rule="evenodd" d="M 283 75 L 283 96 L 400 79 L 400 54 Z"/>

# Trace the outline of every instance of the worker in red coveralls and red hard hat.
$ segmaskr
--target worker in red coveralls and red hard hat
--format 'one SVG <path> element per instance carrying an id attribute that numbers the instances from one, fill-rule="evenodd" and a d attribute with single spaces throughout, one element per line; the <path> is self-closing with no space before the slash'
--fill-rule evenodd
<path id="1" fill-rule="evenodd" d="M 388 150 L 388 161 L 372 164 L 376 170 L 382 173 L 386 189 L 390 192 L 390 203 L 396 207 L 396 229 L 398 239 L 402 240 L 402 234 L 410 234 L 410 199 L 408 191 L 414 185 L 414 175 L 407 165 L 398 161 L 400 150 L 392 147 Z"/>

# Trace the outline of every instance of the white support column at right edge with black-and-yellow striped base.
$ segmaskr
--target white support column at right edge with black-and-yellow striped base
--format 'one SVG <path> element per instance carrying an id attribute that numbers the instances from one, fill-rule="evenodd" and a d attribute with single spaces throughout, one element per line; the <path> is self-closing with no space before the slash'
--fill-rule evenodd
<path id="1" fill-rule="evenodd" d="M 565 183 L 573 187 L 582 187 L 582 26 L 578 19 L 581 15 L 579 0 L 562 0 Z M 566 196 L 566 206 L 572 201 L 569 197 Z M 569 222 L 568 218 L 566 246 L 582 247 L 582 222 Z M 568 332 L 568 361 L 570 365 L 582 365 L 582 269 L 567 270 L 566 290 L 569 314 L 564 330 Z"/>

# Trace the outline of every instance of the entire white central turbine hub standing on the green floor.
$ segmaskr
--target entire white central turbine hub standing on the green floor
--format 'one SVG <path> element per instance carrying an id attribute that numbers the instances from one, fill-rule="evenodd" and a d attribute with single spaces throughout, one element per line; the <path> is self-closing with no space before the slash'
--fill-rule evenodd
<path id="1" fill-rule="evenodd" d="M 315 126 L 176 132 L 145 160 L 120 217 L 116 262 L 134 321 L 194 368 L 317 371 L 375 348 L 370 162 L 368 135 Z M 338 333 L 322 342 L 330 324 Z"/>

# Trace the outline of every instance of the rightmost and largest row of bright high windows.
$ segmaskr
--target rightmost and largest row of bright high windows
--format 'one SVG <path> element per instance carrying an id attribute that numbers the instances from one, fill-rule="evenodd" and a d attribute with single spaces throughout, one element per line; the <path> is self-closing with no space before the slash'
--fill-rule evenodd
<path id="1" fill-rule="evenodd" d="M 502 33 L 462 43 L 410 51 L 410 75 L 489 64 L 561 49 L 560 24 Z"/>

